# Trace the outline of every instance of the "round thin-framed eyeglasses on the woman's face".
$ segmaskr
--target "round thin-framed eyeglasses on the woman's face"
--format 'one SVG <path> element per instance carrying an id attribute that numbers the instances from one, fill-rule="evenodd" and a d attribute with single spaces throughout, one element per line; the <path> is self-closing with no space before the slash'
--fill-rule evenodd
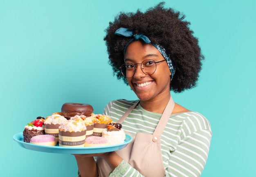
<path id="1" fill-rule="evenodd" d="M 124 63 L 119 68 L 121 69 L 123 76 L 125 76 L 126 78 L 132 78 L 134 76 L 137 69 L 135 65 L 140 65 L 141 71 L 144 74 L 151 75 L 155 73 L 155 70 L 157 69 L 157 63 L 160 63 L 162 61 L 155 62 L 154 60 L 144 60 L 142 63 Z"/>

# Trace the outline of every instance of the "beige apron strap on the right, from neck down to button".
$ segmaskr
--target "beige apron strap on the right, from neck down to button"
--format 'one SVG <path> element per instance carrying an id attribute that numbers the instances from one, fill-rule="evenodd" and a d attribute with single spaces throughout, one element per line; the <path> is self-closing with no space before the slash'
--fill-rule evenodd
<path id="1" fill-rule="evenodd" d="M 169 102 L 167 103 L 165 109 L 164 109 L 164 112 L 157 124 L 157 127 L 155 128 L 155 132 L 153 133 L 153 135 L 158 135 L 158 136 L 161 136 L 162 135 L 162 132 L 164 131 L 164 128 L 171 116 L 171 113 L 173 112 L 173 108 L 174 108 L 174 101 L 173 101 L 173 98 L 170 97 L 169 99 Z"/>

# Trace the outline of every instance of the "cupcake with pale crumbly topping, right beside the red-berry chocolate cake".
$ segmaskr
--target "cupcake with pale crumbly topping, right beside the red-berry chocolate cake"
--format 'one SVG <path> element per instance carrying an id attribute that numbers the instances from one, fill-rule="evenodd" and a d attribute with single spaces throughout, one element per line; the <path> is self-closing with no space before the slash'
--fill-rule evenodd
<path id="1" fill-rule="evenodd" d="M 61 112 L 56 112 L 51 116 L 46 117 L 44 121 L 45 134 L 56 137 L 56 141 L 58 142 L 58 127 L 65 121 L 67 121 L 67 119 L 61 114 Z"/>

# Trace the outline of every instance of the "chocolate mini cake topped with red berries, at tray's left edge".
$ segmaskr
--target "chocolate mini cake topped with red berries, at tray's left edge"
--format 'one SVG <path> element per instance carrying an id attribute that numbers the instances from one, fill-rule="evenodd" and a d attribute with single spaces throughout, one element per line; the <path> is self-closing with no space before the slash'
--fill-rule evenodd
<path id="1" fill-rule="evenodd" d="M 24 142 L 29 143 L 32 137 L 45 134 L 45 126 L 43 125 L 44 119 L 43 117 L 37 117 L 37 119 L 25 125 L 23 130 Z"/>

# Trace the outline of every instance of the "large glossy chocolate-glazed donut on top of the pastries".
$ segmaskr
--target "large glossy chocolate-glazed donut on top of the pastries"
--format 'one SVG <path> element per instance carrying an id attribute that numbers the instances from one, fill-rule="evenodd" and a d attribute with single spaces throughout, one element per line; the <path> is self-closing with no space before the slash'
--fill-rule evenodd
<path id="1" fill-rule="evenodd" d="M 67 119 L 70 119 L 70 117 L 73 117 L 75 115 L 84 115 L 89 117 L 92 115 L 93 108 L 89 104 L 64 103 L 61 107 L 61 112 Z"/>

